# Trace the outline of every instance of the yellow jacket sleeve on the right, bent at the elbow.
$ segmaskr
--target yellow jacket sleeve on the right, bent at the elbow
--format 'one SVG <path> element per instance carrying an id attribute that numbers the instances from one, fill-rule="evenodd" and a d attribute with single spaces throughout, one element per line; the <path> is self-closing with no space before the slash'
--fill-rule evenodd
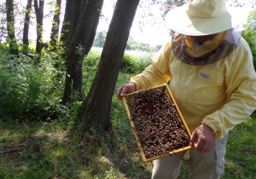
<path id="1" fill-rule="evenodd" d="M 226 59 L 226 103 L 202 121 L 202 124 L 212 128 L 218 139 L 244 121 L 256 107 L 256 75 L 252 53 L 243 38 L 236 48 Z"/>

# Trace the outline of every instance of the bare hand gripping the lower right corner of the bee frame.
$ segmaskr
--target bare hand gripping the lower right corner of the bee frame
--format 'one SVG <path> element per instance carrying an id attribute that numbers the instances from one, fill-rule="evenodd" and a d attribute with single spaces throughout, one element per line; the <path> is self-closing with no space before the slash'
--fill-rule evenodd
<path id="1" fill-rule="evenodd" d="M 196 144 L 195 141 L 197 140 Z M 214 148 L 215 136 L 210 127 L 206 124 L 201 124 L 197 127 L 190 139 L 192 146 L 195 144 L 195 148 L 201 153 L 209 153 Z"/>

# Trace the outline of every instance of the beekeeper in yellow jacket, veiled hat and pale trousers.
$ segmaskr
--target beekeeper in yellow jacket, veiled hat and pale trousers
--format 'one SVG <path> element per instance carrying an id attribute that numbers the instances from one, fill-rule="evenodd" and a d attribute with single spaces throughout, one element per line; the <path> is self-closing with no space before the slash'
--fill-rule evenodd
<path id="1" fill-rule="evenodd" d="M 247 42 L 236 32 L 243 11 L 224 0 L 190 0 L 166 15 L 172 39 L 118 98 L 170 81 L 172 95 L 193 131 L 190 178 L 220 178 L 229 131 L 256 108 L 256 74 Z M 154 160 L 152 178 L 177 178 L 183 153 Z"/>

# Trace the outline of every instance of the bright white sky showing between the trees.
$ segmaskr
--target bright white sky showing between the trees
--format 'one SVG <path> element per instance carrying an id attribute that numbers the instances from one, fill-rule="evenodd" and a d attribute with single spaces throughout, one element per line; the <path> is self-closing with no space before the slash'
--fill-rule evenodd
<path id="1" fill-rule="evenodd" d="M 49 13 L 50 6 L 47 4 L 49 0 L 44 0 L 44 14 Z M 117 0 L 104 0 L 103 8 L 102 8 L 102 17 L 100 19 L 99 26 L 97 31 L 106 30 L 108 31 L 108 26 L 111 21 L 113 15 L 114 4 Z M 163 0 L 165 1 L 165 0 Z M 252 7 L 252 4 L 256 4 L 256 0 L 228 0 L 228 3 L 232 1 L 237 1 L 238 3 L 245 3 L 248 7 Z M 15 0 L 16 2 L 20 2 L 21 5 L 18 7 L 26 6 L 26 0 Z M 133 21 L 133 25 L 131 27 L 130 35 L 139 43 L 148 43 L 150 46 L 154 47 L 158 44 L 163 45 L 170 40 L 169 30 L 166 27 L 164 18 L 162 17 L 163 12 L 160 11 L 159 7 L 156 5 L 148 6 L 148 3 L 151 1 L 142 1 L 140 3 L 137 14 Z M 5 3 L 5 0 L 0 0 L 0 3 Z M 65 0 L 62 0 L 61 6 L 65 8 Z M 145 8 L 146 5 L 146 8 Z M 248 11 L 245 8 L 245 11 Z M 63 19 L 63 12 L 62 10 L 62 18 Z M 49 39 L 49 33 L 51 29 L 51 20 L 52 16 L 46 17 L 44 19 L 44 33 L 43 38 Z M 17 18 L 18 26 L 23 26 L 20 22 L 22 19 Z M 20 25 L 19 25 L 20 24 Z M 32 24 L 36 24 L 35 19 L 33 19 Z M 30 38 L 36 38 L 36 29 L 35 26 L 31 26 L 30 29 Z"/>

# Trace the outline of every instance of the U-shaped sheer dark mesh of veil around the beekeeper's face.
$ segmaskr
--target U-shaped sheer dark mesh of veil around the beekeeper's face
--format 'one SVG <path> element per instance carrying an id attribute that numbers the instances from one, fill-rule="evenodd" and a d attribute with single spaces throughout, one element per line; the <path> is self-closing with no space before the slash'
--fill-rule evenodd
<path id="1" fill-rule="evenodd" d="M 172 51 L 178 60 L 193 66 L 204 66 L 212 64 L 216 61 L 224 59 L 227 55 L 236 49 L 237 44 L 241 39 L 241 33 L 235 29 L 230 29 L 225 32 L 224 38 L 219 42 L 218 46 L 211 51 L 201 55 L 191 55 L 187 53 L 188 45 L 185 39 L 188 36 L 172 31 Z"/>

